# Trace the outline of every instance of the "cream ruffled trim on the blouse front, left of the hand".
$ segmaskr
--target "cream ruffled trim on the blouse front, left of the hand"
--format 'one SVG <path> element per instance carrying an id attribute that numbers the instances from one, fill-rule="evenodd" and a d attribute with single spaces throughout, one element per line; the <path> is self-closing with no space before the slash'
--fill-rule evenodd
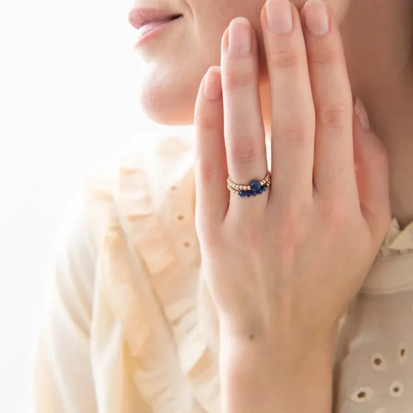
<path id="1" fill-rule="evenodd" d="M 179 160 L 171 159 L 170 151 L 165 160 L 156 154 L 156 167 L 166 168 L 160 173 L 147 153 L 120 161 L 115 194 L 120 222 L 107 231 L 104 289 L 136 361 L 134 378 L 145 401 L 156 412 L 214 413 L 220 409 L 220 383 L 198 328 L 200 256 L 193 199 L 187 195 L 194 185 L 191 153 L 175 153 Z M 180 167 L 168 173 L 168 162 Z M 183 218 L 171 215 L 177 213 Z"/>

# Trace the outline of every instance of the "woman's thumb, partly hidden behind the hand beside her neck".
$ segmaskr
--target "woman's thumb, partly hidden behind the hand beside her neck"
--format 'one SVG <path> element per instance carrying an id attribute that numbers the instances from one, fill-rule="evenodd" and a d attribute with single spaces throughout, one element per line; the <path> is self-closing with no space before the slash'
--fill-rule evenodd
<path id="1" fill-rule="evenodd" d="M 354 168 L 361 212 L 370 230 L 380 239 L 392 218 L 388 151 L 372 131 L 363 103 L 353 100 Z"/>

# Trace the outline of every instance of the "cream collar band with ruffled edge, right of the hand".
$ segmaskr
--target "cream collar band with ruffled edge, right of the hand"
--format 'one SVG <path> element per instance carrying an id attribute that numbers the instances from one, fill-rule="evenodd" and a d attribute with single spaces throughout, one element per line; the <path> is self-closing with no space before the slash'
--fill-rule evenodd
<path id="1" fill-rule="evenodd" d="M 393 218 L 361 293 L 413 290 L 413 222 L 401 230 Z"/>

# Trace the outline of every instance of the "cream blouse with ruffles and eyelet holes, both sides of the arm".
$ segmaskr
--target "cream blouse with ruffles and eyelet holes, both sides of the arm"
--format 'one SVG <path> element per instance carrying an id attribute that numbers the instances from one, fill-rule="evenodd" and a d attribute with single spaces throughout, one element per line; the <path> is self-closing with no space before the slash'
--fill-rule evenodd
<path id="1" fill-rule="evenodd" d="M 220 412 L 194 212 L 191 138 L 91 174 L 54 260 L 33 412 Z M 392 221 L 338 337 L 333 412 L 412 413 L 413 222 Z"/>

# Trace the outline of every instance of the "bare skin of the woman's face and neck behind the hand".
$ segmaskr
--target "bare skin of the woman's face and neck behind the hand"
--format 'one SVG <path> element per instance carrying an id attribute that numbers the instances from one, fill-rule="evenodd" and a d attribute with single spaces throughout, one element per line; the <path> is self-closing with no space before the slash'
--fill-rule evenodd
<path id="1" fill-rule="evenodd" d="M 300 9 L 304 0 L 293 4 Z M 326 0 L 326 4 L 341 30 L 352 94 L 361 98 L 372 129 L 388 149 L 392 215 L 403 229 L 413 220 L 413 1 Z M 162 6 L 184 14 L 184 19 L 139 47 L 147 63 L 140 100 L 148 116 L 167 125 L 193 123 L 202 76 L 210 66 L 220 65 L 222 34 L 232 19 L 241 16 L 257 34 L 260 96 L 269 139 L 270 96 L 260 24 L 264 1 L 176 0 L 158 7 Z"/>

